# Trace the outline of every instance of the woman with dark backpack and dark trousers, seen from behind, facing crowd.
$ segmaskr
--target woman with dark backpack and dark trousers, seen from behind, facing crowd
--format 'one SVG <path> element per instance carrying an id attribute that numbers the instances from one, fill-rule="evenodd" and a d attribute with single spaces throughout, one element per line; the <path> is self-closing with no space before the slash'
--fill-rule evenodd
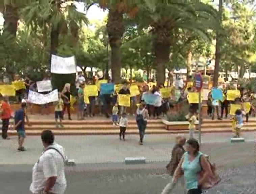
<path id="1" fill-rule="evenodd" d="M 146 104 L 141 103 L 136 111 L 136 123 L 139 130 L 139 144 L 143 145 L 143 138 L 147 127 L 148 110 Z"/>

